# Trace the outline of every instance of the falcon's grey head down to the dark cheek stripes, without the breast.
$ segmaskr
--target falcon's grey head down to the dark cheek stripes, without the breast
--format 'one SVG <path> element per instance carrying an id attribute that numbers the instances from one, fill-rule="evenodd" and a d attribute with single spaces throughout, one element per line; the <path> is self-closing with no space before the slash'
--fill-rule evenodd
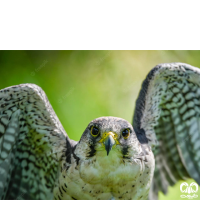
<path id="1" fill-rule="evenodd" d="M 138 149 L 139 141 L 132 125 L 117 117 L 100 117 L 89 123 L 77 147 L 80 158 L 112 156 L 130 158 Z"/>

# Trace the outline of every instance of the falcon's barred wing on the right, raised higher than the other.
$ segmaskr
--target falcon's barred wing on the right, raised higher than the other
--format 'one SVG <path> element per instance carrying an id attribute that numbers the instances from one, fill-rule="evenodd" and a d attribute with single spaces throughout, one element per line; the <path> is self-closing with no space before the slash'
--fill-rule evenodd
<path id="1" fill-rule="evenodd" d="M 150 199 L 169 185 L 193 178 L 200 185 L 200 70 L 184 63 L 160 64 L 143 82 L 133 127 L 153 146 L 155 172 Z"/>

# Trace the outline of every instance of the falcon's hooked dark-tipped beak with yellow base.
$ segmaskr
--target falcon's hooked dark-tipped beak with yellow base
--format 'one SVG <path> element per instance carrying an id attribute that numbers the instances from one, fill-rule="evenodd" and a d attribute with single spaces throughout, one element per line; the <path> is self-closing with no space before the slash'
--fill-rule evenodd
<path id="1" fill-rule="evenodd" d="M 99 142 L 105 145 L 107 156 L 111 151 L 113 145 L 119 144 L 119 142 L 117 141 L 117 134 L 113 132 L 104 133 L 102 139 Z"/>

